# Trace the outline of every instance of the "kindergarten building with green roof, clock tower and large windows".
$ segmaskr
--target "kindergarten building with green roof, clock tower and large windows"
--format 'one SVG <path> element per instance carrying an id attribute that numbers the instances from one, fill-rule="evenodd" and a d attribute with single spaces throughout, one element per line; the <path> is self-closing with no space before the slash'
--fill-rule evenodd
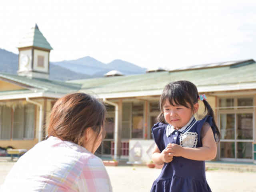
<path id="1" fill-rule="evenodd" d="M 256 62 L 240 60 L 145 74 L 60 82 L 49 80 L 52 47 L 32 28 L 19 46 L 18 74 L 0 73 L 0 146 L 30 149 L 44 139 L 55 101 L 85 92 L 107 106 L 98 156 L 143 161 L 154 145 L 151 127 L 166 84 L 193 82 L 212 106 L 221 139 L 216 160 L 256 163 Z M 200 103 L 200 112 L 203 104 Z"/>

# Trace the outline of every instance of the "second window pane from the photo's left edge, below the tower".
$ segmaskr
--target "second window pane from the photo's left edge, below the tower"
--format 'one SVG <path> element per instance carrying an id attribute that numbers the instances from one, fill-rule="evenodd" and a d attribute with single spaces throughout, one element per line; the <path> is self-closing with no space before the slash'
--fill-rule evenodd
<path id="1" fill-rule="evenodd" d="M 14 122 L 12 138 L 22 139 L 24 128 L 24 106 L 17 106 L 14 109 Z"/>

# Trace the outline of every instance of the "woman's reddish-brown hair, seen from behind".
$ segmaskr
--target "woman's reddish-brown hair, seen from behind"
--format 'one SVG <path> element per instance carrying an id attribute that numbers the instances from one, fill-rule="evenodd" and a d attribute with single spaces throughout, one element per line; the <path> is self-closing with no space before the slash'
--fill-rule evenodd
<path id="1" fill-rule="evenodd" d="M 52 108 L 48 136 L 83 146 L 84 132 L 90 127 L 96 133 L 96 139 L 103 129 L 104 138 L 105 114 L 104 104 L 93 96 L 85 93 L 66 95 L 57 100 Z"/>

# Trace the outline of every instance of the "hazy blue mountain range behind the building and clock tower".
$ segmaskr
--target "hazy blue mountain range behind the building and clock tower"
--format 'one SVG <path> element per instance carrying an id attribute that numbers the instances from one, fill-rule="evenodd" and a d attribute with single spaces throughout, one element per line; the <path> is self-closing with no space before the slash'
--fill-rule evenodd
<path id="1" fill-rule="evenodd" d="M 0 49 L 0 72 L 17 74 L 18 54 Z M 76 60 L 64 60 L 50 62 L 50 79 L 52 80 L 74 80 L 85 78 L 102 77 L 111 70 L 118 70 L 124 75 L 142 74 L 146 68 L 141 68 L 130 62 L 120 59 L 105 64 L 90 56 Z"/>

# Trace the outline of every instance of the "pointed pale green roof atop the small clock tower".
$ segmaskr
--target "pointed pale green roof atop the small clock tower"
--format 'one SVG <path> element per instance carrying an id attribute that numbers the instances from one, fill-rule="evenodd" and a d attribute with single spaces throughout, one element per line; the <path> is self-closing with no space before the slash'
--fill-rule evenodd
<path id="1" fill-rule="evenodd" d="M 51 45 L 40 32 L 37 24 L 34 27 L 32 27 L 28 33 L 26 33 L 24 38 L 22 38 L 18 45 L 18 48 L 30 46 L 52 50 Z"/>

